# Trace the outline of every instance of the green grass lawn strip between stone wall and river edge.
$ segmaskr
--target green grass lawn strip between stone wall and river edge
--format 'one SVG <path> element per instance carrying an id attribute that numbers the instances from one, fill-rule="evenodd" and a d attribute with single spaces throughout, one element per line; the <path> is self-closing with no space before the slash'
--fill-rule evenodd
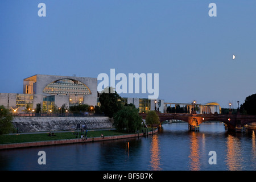
<path id="1" fill-rule="evenodd" d="M 14 134 L 14 135 L 0 135 L 0 144 L 8 143 L 23 143 L 23 142 L 39 142 L 46 140 L 61 140 L 61 139 L 75 139 L 77 137 L 77 131 L 67 131 L 63 133 L 54 133 L 55 136 L 48 136 L 48 133 L 38 133 L 38 134 Z M 87 137 L 100 137 L 101 134 L 104 136 L 113 136 L 113 135 L 124 135 L 127 133 L 119 133 L 115 130 L 99 130 L 99 131 L 88 131 Z M 81 131 L 79 132 L 79 137 L 81 137 Z"/>

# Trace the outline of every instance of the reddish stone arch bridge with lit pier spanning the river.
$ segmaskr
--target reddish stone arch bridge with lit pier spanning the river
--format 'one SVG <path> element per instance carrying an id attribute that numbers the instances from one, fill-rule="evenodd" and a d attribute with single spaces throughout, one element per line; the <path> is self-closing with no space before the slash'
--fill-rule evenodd
<path id="1" fill-rule="evenodd" d="M 140 113 L 142 119 L 146 119 L 147 113 Z M 199 125 L 207 121 L 220 121 L 224 122 L 229 130 L 234 131 L 245 131 L 245 125 L 256 122 L 256 115 L 241 115 L 238 114 L 179 114 L 179 113 L 158 113 L 160 123 L 170 120 L 177 119 L 187 122 L 190 130 L 199 130 Z"/>

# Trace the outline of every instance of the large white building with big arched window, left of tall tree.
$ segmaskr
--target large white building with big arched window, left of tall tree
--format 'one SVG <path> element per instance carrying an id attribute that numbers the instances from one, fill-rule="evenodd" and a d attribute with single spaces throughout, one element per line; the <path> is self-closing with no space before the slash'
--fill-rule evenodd
<path id="1" fill-rule="evenodd" d="M 53 106 L 77 104 L 97 105 L 97 78 L 76 76 L 34 75 L 23 80 L 23 93 L 0 93 L 0 105 L 21 112 L 42 104 L 44 110 Z"/>

